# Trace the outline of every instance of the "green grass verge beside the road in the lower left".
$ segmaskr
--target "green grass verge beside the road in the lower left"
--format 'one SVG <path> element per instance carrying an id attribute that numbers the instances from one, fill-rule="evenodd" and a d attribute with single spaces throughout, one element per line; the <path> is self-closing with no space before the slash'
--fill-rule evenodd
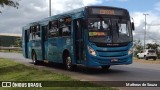
<path id="1" fill-rule="evenodd" d="M 0 81 L 77 81 L 69 76 L 25 66 L 9 59 L 0 58 Z M 82 82 L 82 84 L 91 84 Z M 95 86 L 94 84 L 92 84 Z M 42 88 L 0 88 L 0 90 L 117 90 L 110 87 L 42 87 Z"/>

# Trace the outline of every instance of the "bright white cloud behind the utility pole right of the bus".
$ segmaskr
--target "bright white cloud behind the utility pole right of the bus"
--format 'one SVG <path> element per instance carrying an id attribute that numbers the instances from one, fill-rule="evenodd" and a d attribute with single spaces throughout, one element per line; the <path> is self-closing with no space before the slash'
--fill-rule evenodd
<path id="1" fill-rule="evenodd" d="M 147 34 L 146 40 L 148 41 L 157 41 L 160 42 L 160 17 L 158 14 L 154 14 L 152 11 L 148 12 L 134 12 L 131 13 L 131 16 L 134 18 L 135 28 L 134 31 L 134 39 L 135 40 L 144 40 L 144 32 L 145 32 L 145 16 L 144 13 L 147 13 L 146 21 L 147 21 Z"/>

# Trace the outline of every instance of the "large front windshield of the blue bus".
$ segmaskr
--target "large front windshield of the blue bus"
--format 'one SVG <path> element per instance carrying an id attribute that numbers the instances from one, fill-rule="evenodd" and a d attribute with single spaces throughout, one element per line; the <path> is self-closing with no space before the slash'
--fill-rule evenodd
<path id="1" fill-rule="evenodd" d="M 89 18 L 89 41 L 94 43 L 124 43 L 132 41 L 130 21 L 119 18 Z"/>

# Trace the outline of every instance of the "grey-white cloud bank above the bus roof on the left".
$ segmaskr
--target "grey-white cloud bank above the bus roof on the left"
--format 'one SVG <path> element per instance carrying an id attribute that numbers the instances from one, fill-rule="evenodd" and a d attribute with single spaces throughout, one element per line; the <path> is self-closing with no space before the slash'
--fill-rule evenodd
<path id="1" fill-rule="evenodd" d="M 51 0 L 52 15 L 86 5 L 100 4 L 102 0 Z M 21 0 L 19 9 L 5 6 L 0 14 L 0 33 L 19 33 L 33 21 L 49 16 L 49 0 Z"/>

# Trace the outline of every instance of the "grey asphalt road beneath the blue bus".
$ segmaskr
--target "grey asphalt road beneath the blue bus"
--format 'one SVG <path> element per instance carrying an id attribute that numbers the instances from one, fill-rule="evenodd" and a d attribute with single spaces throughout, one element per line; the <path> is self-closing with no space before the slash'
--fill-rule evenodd
<path id="1" fill-rule="evenodd" d="M 23 58 L 22 54 L 0 52 L 0 57 L 13 59 L 27 66 L 34 66 L 31 63 L 31 60 Z M 99 68 L 78 67 L 78 70 L 75 72 L 66 71 L 57 65 L 37 65 L 34 67 L 63 73 L 81 81 L 160 81 L 159 64 L 133 63 L 131 65 L 111 66 L 109 71 L 101 70 Z M 160 90 L 160 87 L 119 87 L 119 89 Z"/>

